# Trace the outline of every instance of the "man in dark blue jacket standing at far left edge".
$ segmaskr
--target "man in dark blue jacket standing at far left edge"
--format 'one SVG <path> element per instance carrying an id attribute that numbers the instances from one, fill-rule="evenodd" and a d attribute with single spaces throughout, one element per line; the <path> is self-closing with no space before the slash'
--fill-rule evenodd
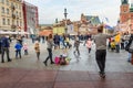
<path id="1" fill-rule="evenodd" d="M 9 47 L 10 47 L 10 44 L 9 44 L 8 37 L 6 37 L 6 35 L 2 35 L 1 36 L 1 63 L 4 63 L 4 59 L 3 59 L 4 53 L 7 53 L 8 62 L 11 62 L 9 57 Z"/>

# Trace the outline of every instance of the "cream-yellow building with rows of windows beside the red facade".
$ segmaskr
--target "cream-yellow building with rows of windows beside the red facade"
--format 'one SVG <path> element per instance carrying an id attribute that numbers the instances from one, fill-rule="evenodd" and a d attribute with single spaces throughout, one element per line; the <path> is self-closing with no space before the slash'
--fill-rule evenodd
<path id="1" fill-rule="evenodd" d="M 0 31 L 22 30 L 22 0 L 0 0 Z"/>

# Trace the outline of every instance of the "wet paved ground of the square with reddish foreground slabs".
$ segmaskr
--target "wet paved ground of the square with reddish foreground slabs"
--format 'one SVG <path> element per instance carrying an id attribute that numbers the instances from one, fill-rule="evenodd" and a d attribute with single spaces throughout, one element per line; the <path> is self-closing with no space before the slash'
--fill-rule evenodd
<path id="1" fill-rule="evenodd" d="M 101 79 L 94 58 L 83 44 L 80 45 L 80 58 L 73 55 L 73 47 L 68 50 L 71 58 L 69 65 L 44 66 L 42 63 L 47 55 L 45 43 L 41 44 L 40 61 L 35 57 L 33 44 L 29 45 L 29 55 L 22 55 L 21 59 L 14 58 L 14 42 L 11 44 L 10 55 L 12 62 L 0 63 L 0 88 L 132 88 L 133 65 L 127 63 L 127 53 L 108 51 L 106 78 Z M 53 58 L 62 54 L 62 50 L 53 50 Z M 79 62 L 76 61 L 79 58 Z M 50 63 L 50 62 L 49 62 Z"/>

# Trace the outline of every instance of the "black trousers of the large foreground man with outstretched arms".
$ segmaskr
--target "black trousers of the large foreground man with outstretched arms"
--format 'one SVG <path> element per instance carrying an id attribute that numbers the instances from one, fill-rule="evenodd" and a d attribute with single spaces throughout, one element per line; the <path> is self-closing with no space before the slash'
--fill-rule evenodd
<path id="1" fill-rule="evenodd" d="M 101 74 L 103 74 L 105 69 L 105 57 L 106 57 L 106 50 L 96 50 L 95 59 Z"/>

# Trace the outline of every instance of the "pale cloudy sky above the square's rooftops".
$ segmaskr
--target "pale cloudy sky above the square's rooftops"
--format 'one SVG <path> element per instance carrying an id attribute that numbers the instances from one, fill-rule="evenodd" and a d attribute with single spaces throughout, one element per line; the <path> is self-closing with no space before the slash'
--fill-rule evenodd
<path id="1" fill-rule="evenodd" d="M 24 0 L 38 7 L 39 23 L 53 24 L 55 19 L 66 18 L 71 21 L 80 21 L 81 13 L 85 15 L 99 15 L 106 24 L 115 25 L 120 18 L 121 0 Z M 108 18 L 108 21 L 106 19 Z"/>

